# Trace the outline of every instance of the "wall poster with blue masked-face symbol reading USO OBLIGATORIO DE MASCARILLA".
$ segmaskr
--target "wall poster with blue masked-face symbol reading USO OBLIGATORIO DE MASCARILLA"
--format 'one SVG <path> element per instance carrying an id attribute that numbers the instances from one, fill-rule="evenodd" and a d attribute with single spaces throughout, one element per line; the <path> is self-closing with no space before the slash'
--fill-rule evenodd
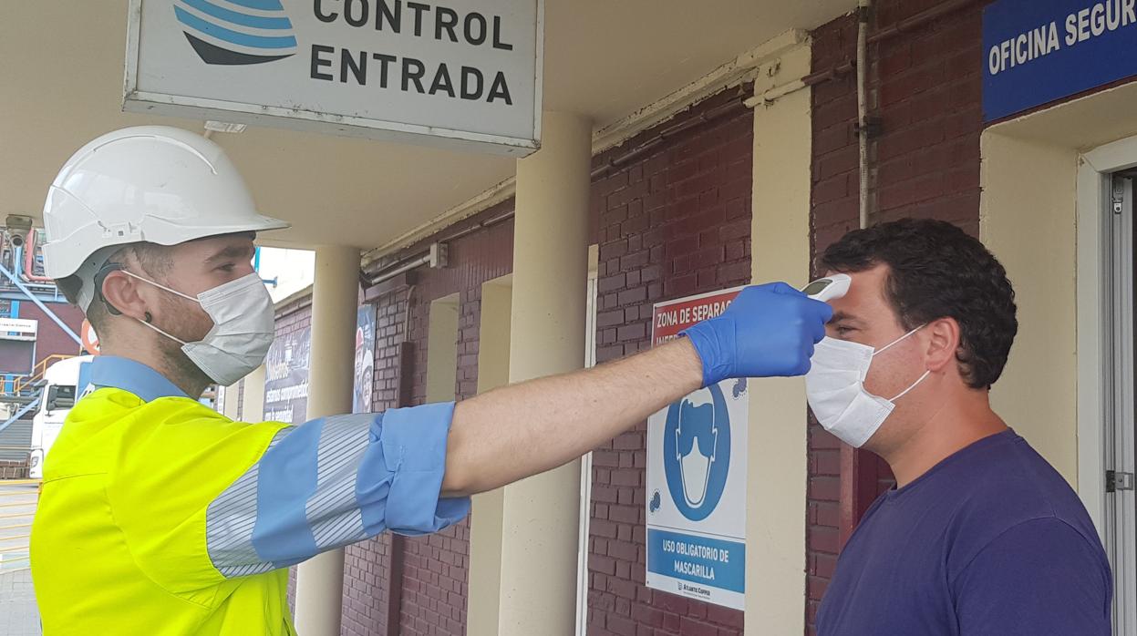
<path id="1" fill-rule="evenodd" d="M 656 304 L 652 345 L 719 316 L 740 291 Z M 746 379 L 730 379 L 648 418 L 648 587 L 744 609 L 748 408 Z"/>

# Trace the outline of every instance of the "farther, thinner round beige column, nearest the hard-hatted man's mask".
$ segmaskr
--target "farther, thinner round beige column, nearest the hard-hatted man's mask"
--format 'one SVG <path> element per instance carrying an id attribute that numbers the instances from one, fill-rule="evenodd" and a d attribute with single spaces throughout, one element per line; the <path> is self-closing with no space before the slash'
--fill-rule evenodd
<path id="1" fill-rule="evenodd" d="M 316 248 L 308 419 L 351 412 L 358 293 L 359 250 Z M 325 552 L 300 564 L 296 585 L 298 633 L 339 636 L 342 604 L 342 550 Z"/>

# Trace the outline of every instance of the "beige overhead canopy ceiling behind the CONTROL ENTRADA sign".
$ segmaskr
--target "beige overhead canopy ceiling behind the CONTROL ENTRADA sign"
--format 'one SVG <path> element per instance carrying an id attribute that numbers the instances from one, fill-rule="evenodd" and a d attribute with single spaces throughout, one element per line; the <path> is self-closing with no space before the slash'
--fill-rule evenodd
<path id="1" fill-rule="evenodd" d="M 545 109 L 597 127 L 852 1 L 548 0 Z M 0 215 L 40 216 L 59 166 L 107 131 L 202 122 L 122 112 L 127 0 L 0 8 Z M 214 136 L 259 207 L 293 224 L 272 243 L 374 248 L 513 176 L 514 160 L 250 127 Z"/>

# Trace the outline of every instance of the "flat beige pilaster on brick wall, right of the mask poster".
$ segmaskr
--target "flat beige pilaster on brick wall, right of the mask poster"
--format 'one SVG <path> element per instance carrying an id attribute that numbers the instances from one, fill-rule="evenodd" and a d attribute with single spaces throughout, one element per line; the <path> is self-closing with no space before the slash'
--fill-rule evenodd
<path id="1" fill-rule="evenodd" d="M 755 82 L 761 95 L 810 73 L 811 50 L 783 53 Z M 752 269 L 756 283 L 810 275 L 810 90 L 754 109 Z M 805 630 L 806 401 L 800 378 L 750 383 L 747 450 L 746 634 Z"/>

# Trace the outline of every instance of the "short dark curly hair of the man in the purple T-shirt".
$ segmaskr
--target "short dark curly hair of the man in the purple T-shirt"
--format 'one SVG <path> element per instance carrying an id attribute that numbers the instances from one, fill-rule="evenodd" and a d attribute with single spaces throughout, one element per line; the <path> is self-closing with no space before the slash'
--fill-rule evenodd
<path id="1" fill-rule="evenodd" d="M 888 266 L 886 294 L 901 325 L 939 318 L 960 324 L 956 359 L 968 386 L 990 388 L 1019 332 L 1014 288 L 1003 265 L 958 227 L 902 219 L 857 229 L 818 259 L 822 270 L 856 273 Z"/>

